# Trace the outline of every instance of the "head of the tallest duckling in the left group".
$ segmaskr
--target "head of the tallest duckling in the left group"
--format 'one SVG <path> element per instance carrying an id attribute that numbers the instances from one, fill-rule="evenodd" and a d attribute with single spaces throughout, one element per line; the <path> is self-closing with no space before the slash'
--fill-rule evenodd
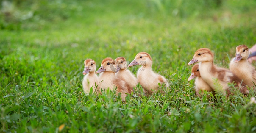
<path id="1" fill-rule="evenodd" d="M 134 65 L 143 65 L 145 66 L 151 66 L 152 65 L 152 58 L 150 56 L 150 54 L 146 53 L 146 52 L 140 52 L 138 53 L 134 60 L 128 65 L 128 67 L 130 66 L 134 66 Z"/>

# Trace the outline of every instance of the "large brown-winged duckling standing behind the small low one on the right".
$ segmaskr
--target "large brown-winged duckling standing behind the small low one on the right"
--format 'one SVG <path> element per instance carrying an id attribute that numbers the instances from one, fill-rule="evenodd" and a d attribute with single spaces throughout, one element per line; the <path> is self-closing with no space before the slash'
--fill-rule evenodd
<path id="1" fill-rule="evenodd" d="M 219 68 L 213 63 L 213 53 L 208 48 L 200 48 L 198 49 L 193 59 L 188 63 L 188 65 L 194 64 L 196 62 L 199 63 L 199 70 L 202 79 L 210 85 L 213 90 L 217 90 L 218 86 L 215 84 L 215 79 L 221 85 L 221 90 L 227 90 L 228 94 L 230 94 L 230 88 L 228 87 L 228 83 L 235 82 L 236 86 L 240 88 L 241 93 L 247 94 L 249 91 L 246 86 L 242 83 L 241 80 L 231 71 L 225 68 Z M 224 92 L 225 93 L 225 92 Z"/>

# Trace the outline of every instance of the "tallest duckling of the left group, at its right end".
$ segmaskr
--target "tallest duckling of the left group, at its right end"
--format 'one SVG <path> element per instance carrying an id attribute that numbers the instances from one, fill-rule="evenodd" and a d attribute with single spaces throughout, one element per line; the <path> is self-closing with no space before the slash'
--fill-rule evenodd
<path id="1" fill-rule="evenodd" d="M 137 78 L 143 89 L 147 94 L 152 94 L 153 91 L 159 90 L 160 84 L 165 84 L 165 88 L 169 86 L 167 79 L 158 75 L 152 71 L 152 58 L 146 52 L 140 52 L 135 56 L 135 59 L 128 65 L 128 67 L 134 65 L 142 65 L 137 72 Z M 151 90 L 152 89 L 152 90 Z"/>

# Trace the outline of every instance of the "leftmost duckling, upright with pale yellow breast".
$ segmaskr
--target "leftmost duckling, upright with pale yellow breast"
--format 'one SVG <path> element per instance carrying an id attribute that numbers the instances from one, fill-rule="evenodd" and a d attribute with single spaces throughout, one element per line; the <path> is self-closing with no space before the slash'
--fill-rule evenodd
<path id="1" fill-rule="evenodd" d="M 93 92 L 98 93 L 98 90 L 95 86 L 95 84 L 98 84 L 98 76 L 95 74 L 96 71 L 96 65 L 95 61 L 92 59 L 87 59 L 84 62 L 85 64 L 85 69 L 83 71 L 83 75 L 87 74 L 84 76 L 82 80 L 82 85 L 85 93 L 90 92 L 90 88 L 93 88 Z"/>

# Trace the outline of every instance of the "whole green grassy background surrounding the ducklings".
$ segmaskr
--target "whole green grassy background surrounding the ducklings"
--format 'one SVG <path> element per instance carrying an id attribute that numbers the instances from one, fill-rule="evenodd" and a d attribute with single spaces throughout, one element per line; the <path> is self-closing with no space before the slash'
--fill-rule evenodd
<path id="1" fill-rule="evenodd" d="M 256 43 L 255 8 L 255 0 L 1 1 L 0 132 L 256 132 L 252 89 L 207 99 L 187 81 L 197 49 L 228 68 L 236 46 Z M 105 57 L 141 51 L 169 80 L 166 94 L 136 91 L 126 103 L 113 92 L 85 95 L 85 59 L 98 69 Z"/>

